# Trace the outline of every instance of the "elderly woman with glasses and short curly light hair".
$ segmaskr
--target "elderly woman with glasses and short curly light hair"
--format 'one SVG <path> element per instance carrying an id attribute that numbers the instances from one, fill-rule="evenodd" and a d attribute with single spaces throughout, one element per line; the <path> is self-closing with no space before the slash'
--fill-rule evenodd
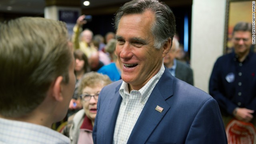
<path id="1" fill-rule="evenodd" d="M 97 113 L 100 90 L 111 83 L 107 75 L 97 72 L 85 74 L 78 87 L 83 109 L 68 118 L 62 133 L 69 136 L 71 144 L 93 144 L 92 128 Z"/>

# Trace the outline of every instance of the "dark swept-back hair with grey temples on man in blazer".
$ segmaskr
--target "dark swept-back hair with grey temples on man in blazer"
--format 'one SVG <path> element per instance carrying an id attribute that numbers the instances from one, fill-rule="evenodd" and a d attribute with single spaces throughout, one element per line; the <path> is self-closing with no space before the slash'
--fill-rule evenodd
<path id="1" fill-rule="evenodd" d="M 124 4 L 117 12 L 115 17 L 115 29 L 124 14 L 142 14 L 150 10 L 155 14 L 155 22 L 151 27 L 154 35 L 154 46 L 160 49 L 168 38 L 173 38 L 176 32 L 175 17 L 172 10 L 158 0 L 132 0 Z"/>

